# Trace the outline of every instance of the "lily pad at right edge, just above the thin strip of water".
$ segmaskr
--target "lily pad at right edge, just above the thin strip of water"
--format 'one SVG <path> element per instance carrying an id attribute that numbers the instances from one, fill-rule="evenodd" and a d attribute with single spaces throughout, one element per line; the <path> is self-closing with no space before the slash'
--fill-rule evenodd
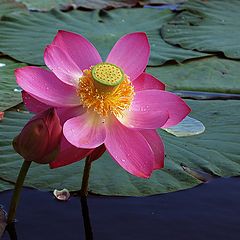
<path id="1" fill-rule="evenodd" d="M 171 90 L 240 93 L 240 62 L 218 57 L 148 67 Z"/>

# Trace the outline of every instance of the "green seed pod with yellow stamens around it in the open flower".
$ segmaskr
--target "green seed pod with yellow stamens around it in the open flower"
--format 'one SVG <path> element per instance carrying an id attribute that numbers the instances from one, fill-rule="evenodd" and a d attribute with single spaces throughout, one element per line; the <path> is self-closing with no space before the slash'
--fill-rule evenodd
<path id="1" fill-rule="evenodd" d="M 129 77 L 110 63 L 100 63 L 83 71 L 79 79 L 77 95 L 83 107 L 105 118 L 122 116 L 134 97 Z"/>

